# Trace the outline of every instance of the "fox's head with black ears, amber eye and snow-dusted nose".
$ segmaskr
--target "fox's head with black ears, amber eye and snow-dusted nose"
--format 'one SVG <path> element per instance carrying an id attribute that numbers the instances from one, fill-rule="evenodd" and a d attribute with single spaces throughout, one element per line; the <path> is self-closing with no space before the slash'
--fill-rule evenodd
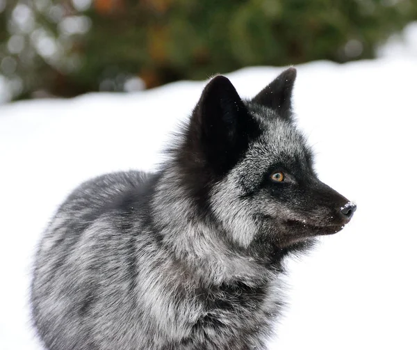
<path id="1" fill-rule="evenodd" d="M 214 77 L 183 135 L 178 161 L 195 212 L 243 247 L 256 240 L 287 248 L 333 234 L 356 209 L 318 180 L 293 120 L 295 77 L 289 68 L 252 100 L 242 100 L 226 77 Z"/>

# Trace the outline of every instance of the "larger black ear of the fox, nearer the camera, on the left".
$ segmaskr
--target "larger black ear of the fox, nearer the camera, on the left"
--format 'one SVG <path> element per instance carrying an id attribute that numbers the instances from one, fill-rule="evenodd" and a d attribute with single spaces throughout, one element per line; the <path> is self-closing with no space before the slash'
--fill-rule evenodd
<path id="1" fill-rule="evenodd" d="M 203 90 L 193 112 L 192 130 L 199 136 L 195 141 L 210 167 L 223 175 L 247 150 L 250 139 L 259 133 L 259 125 L 229 79 L 219 75 Z"/>

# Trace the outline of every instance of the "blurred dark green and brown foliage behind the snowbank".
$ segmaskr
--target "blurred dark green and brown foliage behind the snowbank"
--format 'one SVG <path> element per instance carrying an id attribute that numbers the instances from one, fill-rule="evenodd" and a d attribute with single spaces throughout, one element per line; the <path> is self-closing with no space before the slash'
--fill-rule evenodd
<path id="1" fill-rule="evenodd" d="M 417 0 L 0 0 L 0 101 L 373 58 Z"/>

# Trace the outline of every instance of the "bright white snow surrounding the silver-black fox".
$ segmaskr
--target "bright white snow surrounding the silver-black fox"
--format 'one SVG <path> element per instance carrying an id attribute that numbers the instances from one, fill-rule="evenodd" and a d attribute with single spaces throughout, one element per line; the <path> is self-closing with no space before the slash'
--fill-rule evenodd
<path id="1" fill-rule="evenodd" d="M 298 123 L 323 182 L 357 202 L 352 222 L 288 260 L 288 302 L 270 349 L 417 349 L 417 24 L 380 58 L 297 66 Z M 252 97 L 283 68 L 227 74 Z M 88 178 L 150 170 L 206 82 L 0 106 L 0 349 L 42 349 L 28 286 L 42 230 Z"/>

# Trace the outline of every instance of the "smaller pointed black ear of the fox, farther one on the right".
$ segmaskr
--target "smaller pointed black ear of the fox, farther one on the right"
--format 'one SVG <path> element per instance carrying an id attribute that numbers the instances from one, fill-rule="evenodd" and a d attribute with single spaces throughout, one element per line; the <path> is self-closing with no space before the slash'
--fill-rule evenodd
<path id="1" fill-rule="evenodd" d="M 291 97 L 297 70 L 291 67 L 284 70 L 277 79 L 266 86 L 252 102 L 270 107 L 278 112 L 281 118 L 291 119 Z"/>

